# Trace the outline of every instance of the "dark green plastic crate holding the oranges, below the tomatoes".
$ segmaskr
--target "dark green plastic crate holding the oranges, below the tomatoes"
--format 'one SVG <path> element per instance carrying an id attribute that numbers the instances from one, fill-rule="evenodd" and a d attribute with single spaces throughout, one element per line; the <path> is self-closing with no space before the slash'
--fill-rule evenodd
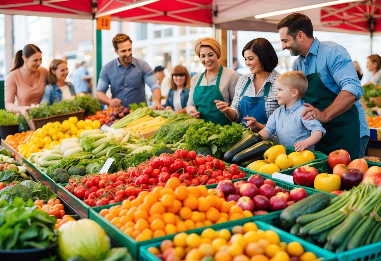
<path id="1" fill-rule="evenodd" d="M 139 259 L 139 247 L 141 247 L 142 245 L 147 245 L 147 244 L 151 244 L 151 243 L 155 243 L 155 242 L 161 242 L 161 241 L 163 241 L 165 239 L 171 239 L 171 238 L 174 237 L 174 234 L 172 234 L 172 235 L 168 235 L 168 236 L 164 236 L 164 237 L 157 237 L 155 239 L 150 239 L 150 240 L 146 240 L 146 241 L 142 241 L 142 242 L 137 242 L 132 237 L 128 236 L 123 231 L 121 231 L 116 226 L 114 226 L 109 220 L 107 220 L 106 218 L 101 216 L 99 214 L 99 212 L 103 208 L 108 208 L 108 207 L 107 206 L 100 206 L 100 207 L 93 207 L 93 208 L 91 208 L 90 209 L 89 218 L 91 220 L 96 221 L 99 225 L 101 225 L 101 227 L 104 229 L 104 231 L 106 231 L 106 233 L 120 247 L 127 247 L 128 251 L 130 251 L 133 259 L 136 259 L 136 260 Z M 273 213 L 275 213 L 275 212 L 273 212 Z M 280 213 L 277 213 L 277 215 L 279 216 Z M 221 224 L 207 226 L 207 227 L 204 227 L 203 229 L 205 229 L 205 228 L 215 228 L 215 227 L 218 227 L 218 228 L 232 227 L 232 226 L 235 226 L 235 225 L 240 224 L 242 222 L 246 223 L 246 222 L 253 221 L 253 220 L 261 220 L 261 218 L 263 218 L 263 215 L 252 216 L 250 218 L 243 218 L 243 219 L 240 219 L 240 220 L 228 221 L 228 222 L 221 223 Z M 200 230 L 200 229 L 192 229 L 192 230 L 187 231 L 187 233 L 193 233 L 193 232 L 196 233 L 198 230 Z"/>

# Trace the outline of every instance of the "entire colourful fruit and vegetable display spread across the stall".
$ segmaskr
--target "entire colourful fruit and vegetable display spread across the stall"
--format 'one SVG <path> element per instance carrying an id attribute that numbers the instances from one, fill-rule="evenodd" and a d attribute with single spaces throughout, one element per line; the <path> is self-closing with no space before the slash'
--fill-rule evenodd
<path id="1" fill-rule="evenodd" d="M 39 247 L 59 260 L 379 260 L 381 164 L 295 152 L 235 123 L 143 104 L 101 111 L 83 99 L 85 118 L 53 115 L 2 140 L 14 159 L 0 155 L 0 186 L 13 191 L 0 190 L 1 212 L 44 216 L 51 234 L 3 245 L 10 258 Z M 109 250 L 106 234 L 120 248 Z"/>

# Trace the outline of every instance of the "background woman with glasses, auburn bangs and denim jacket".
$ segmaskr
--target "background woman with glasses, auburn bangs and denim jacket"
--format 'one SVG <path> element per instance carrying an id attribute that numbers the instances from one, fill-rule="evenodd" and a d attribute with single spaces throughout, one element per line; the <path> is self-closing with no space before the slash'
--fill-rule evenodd
<path id="1" fill-rule="evenodd" d="M 182 65 L 176 65 L 171 72 L 171 89 L 165 102 L 166 110 L 186 113 L 191 76 Z"/>

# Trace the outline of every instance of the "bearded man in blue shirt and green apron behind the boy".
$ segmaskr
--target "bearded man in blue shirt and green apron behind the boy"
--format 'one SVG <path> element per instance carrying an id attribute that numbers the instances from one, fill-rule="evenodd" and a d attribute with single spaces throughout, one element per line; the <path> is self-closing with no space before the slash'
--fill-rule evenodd
<path id="1" fill-rule="evenodd" d="M 299 56 L 293 70 L 307 75 L 303 97 L 307 108 L 301 115 L 303 119 L 317 119 L 327 132 L 315 150 L 329 154 L 344 149 L 352 159 L 363 158 L 370 134 L 359 102 L 364 92 L 351 56 L 337 43 L 314 38 L 312 22 L 304 14 L 290 14 L 277 29 L 282 49 Z"/>

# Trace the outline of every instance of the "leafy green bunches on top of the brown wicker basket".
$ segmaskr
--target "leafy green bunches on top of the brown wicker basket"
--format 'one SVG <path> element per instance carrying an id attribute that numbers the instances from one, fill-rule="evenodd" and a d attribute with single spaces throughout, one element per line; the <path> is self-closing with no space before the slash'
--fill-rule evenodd
<path id="1" fill-rule="evenodd" d="M 28 117 L 29 119 L 40 119 L 79 110 L 85 110 L 85 116 L 94 115 L 96 111 L 101 110 L 101 103 L 90 95 L 75 97 L 74 100 L 61 100 L 52 105 L 41 103 L 28 111 Z"/>

